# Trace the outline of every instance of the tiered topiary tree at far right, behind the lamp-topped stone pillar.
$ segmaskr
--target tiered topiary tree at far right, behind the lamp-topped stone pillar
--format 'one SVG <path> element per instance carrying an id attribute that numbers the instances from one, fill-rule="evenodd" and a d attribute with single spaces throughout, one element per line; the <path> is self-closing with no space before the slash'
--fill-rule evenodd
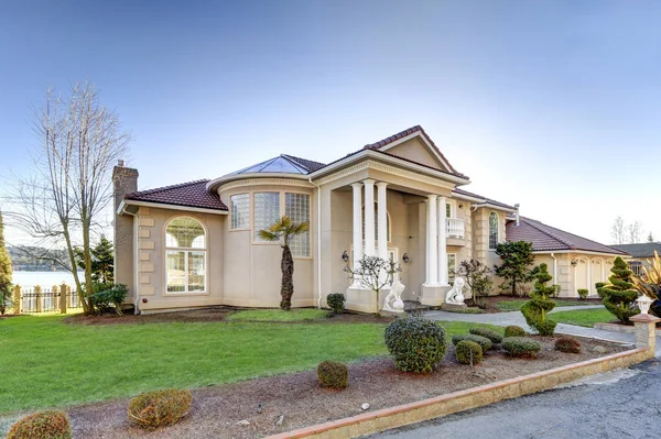
<path id="1" fill-rule="evenodd" d="M 638 292 L 633 288 L 633 272 L 620 256 L 613 261 L 613 273 L 608 277 L 608 284 L 597 289 L 606 309 L 618 318 L 622 323 L 630 323 L 629 318 L 640 312 L 636 308 Z"/>

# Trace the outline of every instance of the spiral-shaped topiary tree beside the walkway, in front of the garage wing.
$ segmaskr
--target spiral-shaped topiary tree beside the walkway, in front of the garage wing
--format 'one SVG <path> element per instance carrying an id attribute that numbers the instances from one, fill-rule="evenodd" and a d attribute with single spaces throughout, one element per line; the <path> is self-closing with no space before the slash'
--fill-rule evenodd
<path id="1" fill-rule="evenodd" d="M 546 316 L 555 308 L 555 301 L 551 298 L 555 293 L 555 286 L 546 286 L 553 276 L 549 274 L 546 264 L 540 264 L 535 277 L 534 290 L 530 293 L 531 299 L 521 306 L 521 312 L 528 326 L 534 328 L 540 336 L 550 337 L 553 336 L 557 325 Z"/>

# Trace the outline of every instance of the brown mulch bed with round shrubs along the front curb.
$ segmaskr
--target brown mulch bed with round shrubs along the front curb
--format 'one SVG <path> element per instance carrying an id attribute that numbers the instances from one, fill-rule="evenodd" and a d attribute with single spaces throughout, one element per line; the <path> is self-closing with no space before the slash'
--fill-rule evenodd
<path id="1" fill-rule="evenodd" d="M 127 419 L 128 399 L 67 409 L 74 438 L 260 438 L 369 410 L 407 404 L 433 396 L 512 378 L 564 364 L 604 356 L 626 347 L 582 340 L 579 354 L 553 349 L 554 339 L 533 337 L 543 350 L 535 360 L 508 358 L 502 351 L 489 351 L 475 366 L 458 364 L 454 348 L 448 347 L 441 367 L 430 374 L 402 373 L 392 360 L 376 359 L 349 366 L 349 387 L 332 391 L 319 387 L 316 372 L 307 371 L 193 391 L 193 409 L 180 424 L 155 431 L 133 427 Z M 596 345 L 606 353 L 595 353 Z M 154 365 L 158 373 L 158 365 Z M 281 426 L 277 419 L 284 415 Z M 237 424 L 248 421 L 248 425 Z M 243 422 L 245 424 L 245 422 Z"/>

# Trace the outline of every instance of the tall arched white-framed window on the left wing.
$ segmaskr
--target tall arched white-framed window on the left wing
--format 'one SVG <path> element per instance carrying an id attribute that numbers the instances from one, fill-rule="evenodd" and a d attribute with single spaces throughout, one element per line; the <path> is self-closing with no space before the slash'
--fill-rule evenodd
<path id="1" fill-rule="evenodd" d="M 199 221 L 178 217 L 165 229 L 167 293 L 206 292 L 206 232 Z"/>

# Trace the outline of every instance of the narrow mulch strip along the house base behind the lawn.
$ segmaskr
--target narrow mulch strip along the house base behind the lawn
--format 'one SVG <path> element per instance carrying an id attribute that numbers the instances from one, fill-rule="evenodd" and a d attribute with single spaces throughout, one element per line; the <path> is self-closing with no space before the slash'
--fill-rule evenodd
<path id="1" fill-rule="evenodd" d="M 251 308 L 254 309 L 254 308 Z M 104 314 L 100 316 L 84 316 L 82 314 L 67 317 L 64 322 L 71 325 L 126 325 L 126 323 L 167 323 L 167 322 L 204 322 L 204 321 L 224 321 L 225 318 L 237 311 L 236 308 L 201 308 L 189 311 L 178 312 L 161 312 L 145 316 L 136 316 L 126 314 L 118 316 L 117 314 Z M 328 318 L 317 320 L 300 320 L 300 321 L 279 321 L 279 323 L 389 323 L 394 320 L 394 317 L 373 315 L 350 314 L 344 312 L 340 315 L 328 314 Z M 239 321 L 237 321 L 239 322 Z M 250 320 L 241 320 L 240 322 L 250 322 Z M 266 321 L 259 321 L 266 322 Z"/>

